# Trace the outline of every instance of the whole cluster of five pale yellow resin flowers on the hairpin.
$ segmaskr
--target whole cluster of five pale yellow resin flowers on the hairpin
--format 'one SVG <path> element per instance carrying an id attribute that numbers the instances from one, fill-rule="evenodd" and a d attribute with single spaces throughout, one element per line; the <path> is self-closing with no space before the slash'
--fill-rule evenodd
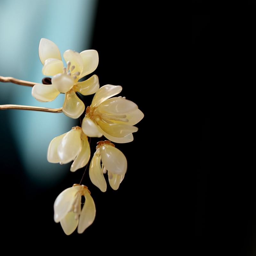
<path id="1" fill-rule="evenodd" d="M 88 137 L 107 140 L 97 143 L 90 167 L 89 176 L 92 183 L 102 192 L 107 190 L 104 174 L 108 172 L 111 188 L 117 190 L 127 171 L 127 160 L 124 154 L 115 147 L 115 143 L 127 143 L 133 140 L 133 132 L 137 132 L 137 124 L 143 113 L 138 106 L 125 97 L 114 97 L 122 91 L 119 85 L 107 84 L 100 87 L 98 76 L 93 75 L 83 82 L 79 80 L 92 73 L 98 66 L 99 57 L 95 50 L 75 52 L 67 50 L 63 54 L 64 66 L 60 51 L 52 41 L 42 38 L 39 43 L 39 58 L 43 64 L 42 73 L 52 76 L 52 84 L 35 84 L 32 95 L 36 100 L 47 102 L 54 100 L 60 93 L 65 93 L 63 113 L 71 118 L 82 115 L 81 127 L 72 127 L 50 142 L 47 160 L 50 163 L 67 164 L 71 161 L 70 171 L 83 168 L 91 156 Z M 79 99 L 82 95 L 94 94 L 92 104 L 87 106 Z M 85 113 L 84 113 L 85 111 Z M 84 114 L 83 114 L 84 113 Z M 81 197 L 85 203 L 81 207 Z M 88 188 L 74 184 L 60 193 L 54 203 L 54 220 L 60 222 L 66 235 L 77 228 L 83 233 L 95 218 L 95 204 Z"/>

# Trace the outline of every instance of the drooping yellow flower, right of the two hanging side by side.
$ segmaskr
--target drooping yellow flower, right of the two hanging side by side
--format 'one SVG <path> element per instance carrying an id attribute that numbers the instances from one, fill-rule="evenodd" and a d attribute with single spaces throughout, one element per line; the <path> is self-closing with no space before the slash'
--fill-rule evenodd
<path id="1" fill-rule="evenodd" d="M 108 181 L 114 190 L 119 188 L 127 170 L 127 160 L 124 154 L 109 140 L 99 141 L 96 152 L 92 157 L 89 176 L 92 183 L 102 192 L 107 190 L 103 173 L 108 171 Z M 100 161 L 102 164 L 100 164 Z"/>

